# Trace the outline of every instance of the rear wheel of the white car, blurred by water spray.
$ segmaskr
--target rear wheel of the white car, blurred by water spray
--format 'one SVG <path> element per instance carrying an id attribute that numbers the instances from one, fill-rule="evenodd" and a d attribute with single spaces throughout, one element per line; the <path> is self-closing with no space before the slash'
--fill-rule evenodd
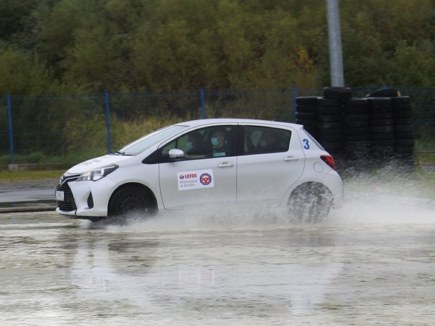
<path id="1" fill-rule="evenodd" d="M 333 205 L 331 192 L 322 184 L 308 182 L 293 190 L 288 198 L 288 213 L 298 222 L 318 223 L 329 214 Z"/>

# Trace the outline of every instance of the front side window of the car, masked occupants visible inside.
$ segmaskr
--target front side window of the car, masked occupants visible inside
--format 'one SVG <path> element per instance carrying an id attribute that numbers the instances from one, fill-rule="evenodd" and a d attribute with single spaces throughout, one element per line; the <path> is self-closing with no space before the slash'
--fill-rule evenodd
<path id="1" fill-rule="evenodd" d="M 231 126 L 207 127 L 188 132 L 160 148 L 162 162 L 168 162 L 170 149 L 184 152 L 183 160 L 196 160 L 230 155 Z"/>

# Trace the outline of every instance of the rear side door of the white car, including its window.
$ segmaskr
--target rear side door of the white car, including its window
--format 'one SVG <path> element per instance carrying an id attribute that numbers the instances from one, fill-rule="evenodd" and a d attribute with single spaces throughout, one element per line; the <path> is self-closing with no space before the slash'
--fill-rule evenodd
<path id="1" fill-rule="evenodd" d="M 239 137 L 244 141 L 239 141 L 237 207 L 279 206 L 304 169 L 305 156 L 296 130 L 245 124 L 240 126 Z M 265 139 L 276 143 L 266 144 Z"/>

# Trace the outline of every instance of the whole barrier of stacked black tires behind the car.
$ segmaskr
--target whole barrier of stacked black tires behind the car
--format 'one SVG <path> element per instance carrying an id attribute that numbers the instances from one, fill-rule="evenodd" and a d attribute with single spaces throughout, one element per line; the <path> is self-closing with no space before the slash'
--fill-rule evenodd
<path id="1" fill-rule="evenodd" d="M 302 124 L 343 169 L 414 167 L 412 106 L 394 88 L 352 97 L 349 87 L 325 87 L 323 96 L 297 97 Z"/>

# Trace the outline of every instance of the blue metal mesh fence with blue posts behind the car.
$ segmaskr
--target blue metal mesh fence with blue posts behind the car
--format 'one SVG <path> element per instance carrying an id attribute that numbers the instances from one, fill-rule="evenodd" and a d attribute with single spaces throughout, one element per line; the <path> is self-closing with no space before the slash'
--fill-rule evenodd
<path id="1" fill-rule="evenodd" d="M 383 86 L 386 87 L 386 86 Z M 382 87 L 380 87 L 382 88 Z M 378 88 L 354 88 L 364 97 Z M 398 87 L 410 96 L 415 134 L 423 144 L 435 139 L 435 88 Z M 243 117 L 294 121 L 295 98 L 322 96 L 323 89 L 180 91 L 84 95 L 0 96 L 0 156 L 62 156 L 112 152 L 166 124 L 187 119 Z M 107 144 L 107 145 L 104 145 Z M 430 145 L 429 145 L 430 146 Z M 112 148 L 113 147 L 113 148 Z M 433 148 L 422 148 L 433 149 Z"/>

